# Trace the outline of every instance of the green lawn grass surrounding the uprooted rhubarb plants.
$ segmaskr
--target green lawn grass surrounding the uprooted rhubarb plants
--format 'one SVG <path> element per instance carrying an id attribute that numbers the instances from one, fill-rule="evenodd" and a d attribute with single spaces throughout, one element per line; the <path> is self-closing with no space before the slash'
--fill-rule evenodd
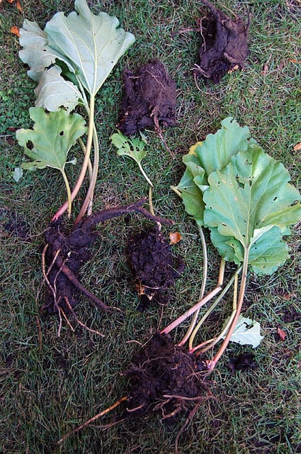
<path id="1" fill-rule="evenodd" d="M 137 0 L 92 2 L 116 15 L 137 41 L 118 63 L 97 101 L 97 128 L 101 136 L 101 168 L 95 209 L 125 204 L 147 194 L 134 162 L 115 155 L 109 135 L 117 121 L 123 67 L 135 68 L 149 57 L 159 57 L 177 82 L 176 128 L 166 141 L 177 157 L 171 161 L 159 138 L 147 131 L 149 155 L 144 161 L 155 183 L 157 214 L 173 218 L 183 243 L 175 247 L 186 260 L 176 283 L 172 304 L 163 311 L 161 326 L 169 323 L 198 297 L 202 271 L 200 242 L 195 227 L 183 212 L 181 201 L 169 189 L 183 174 L 181 156 L 190 145 L 215 132 L 225 116 L 247 124 L 251 133 L 290 171 L 300 187 L 300 1 L 216 1 L 241 14 L 251 13 L 250 55 L 242 72 L 228 74 L 219 85 L 195 87 L 191 68 L 198 62 L 198 33 L 176 32 L 195 26 L 203 15 L 198 1 Z M 28 0 L 24 16 L 44 26 L 55 11 L 72 9 L 69 1 Z M 57 440 L 102 411 L 126 392 L 122 372 L 137 349 L 159 326 L 161 310 L 138 313 L 130 284 L 124 248 L 137 229 L 120 218 L 99 227 L 92 260 L 83 270 L 83 282 L 107 304 L 120 306 L 125 317 L 108 316 L 81 301 L 77 314 L 88 326 L 106 334 L 99 338 L 76 327 L 63 326 L 57 338 L 57 320 L 40 314 L 42 294 L 40 250 L 42 232 L 65 192 L 56 172 L 26 172 L 16 184 L 14 167 L 23 161 L 22 150 L 9 128 L 30 126 L 28 107 L 34 103 L 33 82 L 17 58 L 18 40 L 9 33 L 21 26 L 23 15 L 12 4 L 0 6 L 1 90 L 1 302 L 0 302 L 0 451 L 17 454 L 92 454 L 174 452 L 174 439 L 184 420 L 167 427 L 159 418 L 130 421 L 103 429 L 113 415 L 96 421 L 71 436 Z M 299 14 L 299 16 L 298 16 Z M 76 179 L 76 168 L 69 166 Z M 55 194 L 55 196 L 54 196 Z M 81 194 L 84 195 L 84 194 Z M 18 235 L 4 226 L 18 221 Z M 21 227 L 23 226 L 23 230 Z M 22 234 L 21 234 L 22 233 Z M 167 233 L 167 229 L 166 229 Z M 263 342 L 256 349 L 256 370 L 231 374 L 227 360 L 247 348 L 230 344 L 217 370 L 210 375 L 216 400 L 206 402 L 181 437 L 181 453 L 297 454 L 301 452 L 301 309 L 300 226 L 290 238 L 290 260 L 271 277 L 249 276 L 244 314 L 260 321 Z M 210 285 L 216 279 L 218 257 L 210 248 Z M 84 274 L 86 272 L 86 274 Z M 206 333 L 217 328 L 227 309 L 210 319 Z M 280 341 L 277 328 L 287 333 Z M 180 329 L 176 338 L 180 338 Z M 118 413 L 118 412 L 117 412 Z"/>

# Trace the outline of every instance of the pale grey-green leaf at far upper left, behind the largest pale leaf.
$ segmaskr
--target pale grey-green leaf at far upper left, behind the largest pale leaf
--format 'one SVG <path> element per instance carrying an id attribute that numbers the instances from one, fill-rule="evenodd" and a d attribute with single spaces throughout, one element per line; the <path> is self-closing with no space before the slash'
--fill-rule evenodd
<path id="1" fill-rule="evenodd" d="M 20 28 L 21 60 L 30 67 L 27 74 L 31 79 L 39 81 L 46 67 L 55 62 L 55 55 L 47 49 L 47 33 L 42 31 L 38 23 L 25 19 Z"/>

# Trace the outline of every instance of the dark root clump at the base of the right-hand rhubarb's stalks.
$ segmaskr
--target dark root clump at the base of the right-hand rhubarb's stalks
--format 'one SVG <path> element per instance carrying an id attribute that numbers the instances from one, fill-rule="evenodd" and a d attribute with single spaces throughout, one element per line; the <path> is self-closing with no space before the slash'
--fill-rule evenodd
<path id="1" fill-rule="evenodd" d="M 212 397 L 194 355 L 156 333 L 132 359 L 128 378 L 127 412 L 133 416 L 157 411 L 171 422 L 176 414 L 193 411 Z"/>

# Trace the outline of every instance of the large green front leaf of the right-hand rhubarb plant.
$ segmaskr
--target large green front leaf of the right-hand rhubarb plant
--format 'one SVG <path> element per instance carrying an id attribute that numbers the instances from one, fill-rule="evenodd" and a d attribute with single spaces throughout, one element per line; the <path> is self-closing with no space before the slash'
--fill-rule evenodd
<path id="1" fill-rule="evenodd" d="M 220 251 L 225 236 L 239 261 L 247 249 L 253 270 L 265 274 L 286 260 L 282 236 L 301 218 L 301 197 L 289 180 L 283 165 L 258 145 L 234 155 L 222 171 L 212 172 L 203 196 L 204 221 L 213 228 L 212 242 L 218 239 Z"/>

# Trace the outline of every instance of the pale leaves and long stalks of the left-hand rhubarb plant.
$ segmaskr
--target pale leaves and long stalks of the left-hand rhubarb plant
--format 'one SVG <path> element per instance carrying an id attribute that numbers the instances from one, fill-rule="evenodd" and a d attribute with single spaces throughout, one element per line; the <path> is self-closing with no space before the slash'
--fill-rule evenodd
<path id="1" fill-rule="evenodd" d="M 53 220 L 57 220 L 69 207 L 79 192 L 84 182 L 87 171 L 89 172 L 89 189 L 81 206 L 76 223 L 81 221 L 88 211 L 91 214 L 93 191 L 96 184 L 99 165 L 99 145 L 95 126 L 95 98 L 101 89 L 103 82 L 113 70 L 120 57 L 134 43 L 135 38 L 131 33 L 119 28 L 118 19 L 109 16 L 105 12 L 93 14 L 86 0 L 76 0 L 75 11 L 65 16 L 59 12 L 47 22 L 45 29 L 41 30 L 37 23 L 25 19 L 23 28 L 20 30 L 20 44 L 22 49 L 19 53 L 21 60 L 29 66 L 28 76 L 38 82 L 35 89 L 34 130 L 21 129 L 17 132 L 17 139 L 25 148 L 25 153 L 33 159 L 33 165 L 25 164 L 25 168 L 52 165 L 52 161 L 59 155 L 59 170 L 64 176 L 67 188 L 67 177 L 64 174 L 64 165 L 67 162 L 66 148 L 57 148 L 57 140 L 62 133 L 59 119 L 64 116 L 70 127 L 79 125 L 79 114 L 71 114 L 76 106 L 84 106 L 87 117 L 86 143 L 80 139 L 83 131 L 83 121 L 79 131 L 72 137 L 73 145 L 79 140 L 84 152 L 84 161 L 81 166 L 79 178 L 68 201 L 57 211 Z M 42 109 L 38 109 L 42 108 Z M 51 114 L 46 114 L 45 111 Z M 64 112 L 64 114 L 62 114 Z M 51 128 L 47 130 L 47 140 L 41 145 L 41 135 L 45 119 L 51 122 Z M 77 123 L 76 123 L 77 122 Z M 72 123 L 72 126 L 71 126 Z M 38 140 L 36 142 L 35 140 Z M 46 143 L 47 142 L 47 143 Z M 29 144 L 29 146 L 28 146 Z M 53 145 L 55 144 L 55 147 Z M 91 163 L 91 150 L 93 148 L 93 164 Z M 47 159 L 45 160 L 45 155 Z M 50 160 L 50 163 L 47 160 Z"/>

